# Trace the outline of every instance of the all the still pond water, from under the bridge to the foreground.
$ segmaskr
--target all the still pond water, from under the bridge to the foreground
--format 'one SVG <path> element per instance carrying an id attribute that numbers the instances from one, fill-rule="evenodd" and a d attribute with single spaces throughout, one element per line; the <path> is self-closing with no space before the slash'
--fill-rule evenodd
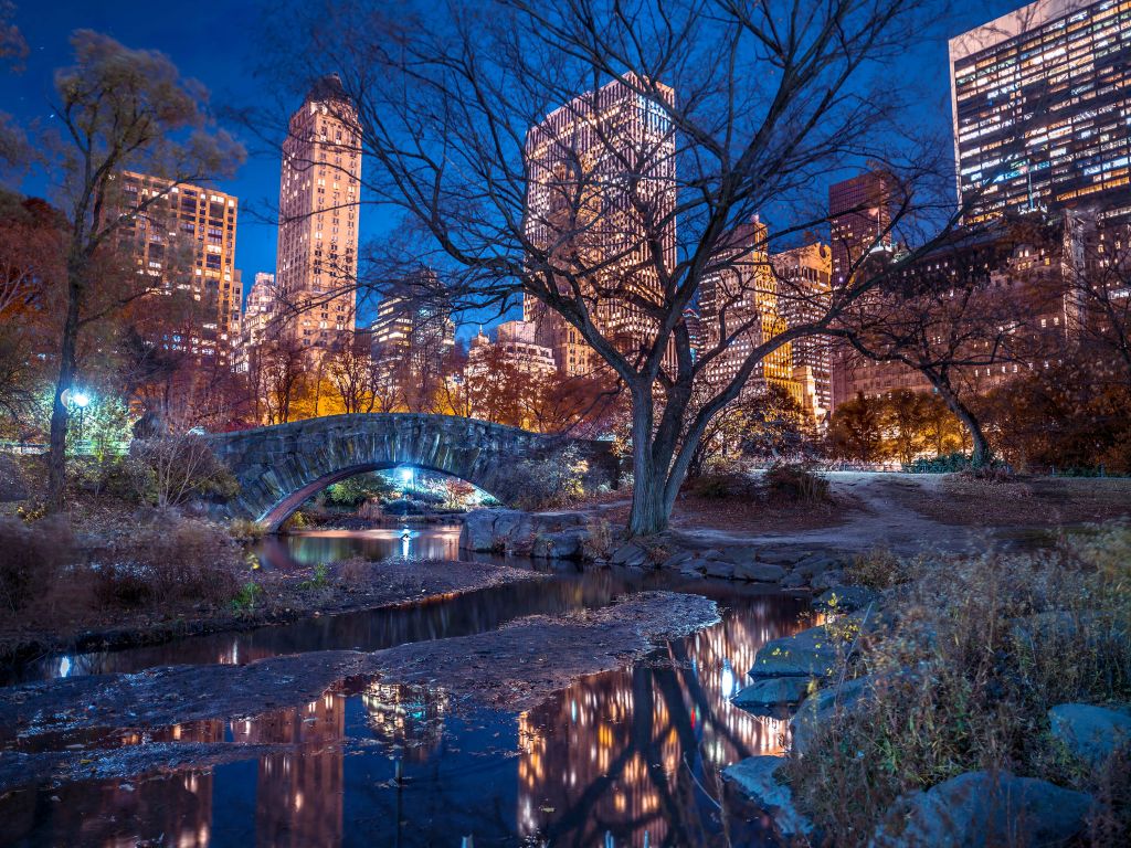
<path id="1" fill-rule="evenodd" d="M 357 554 L 454 559 L 454 538 L 450 528 L 425 530 L 406 551 L 399 531 L 314 533 L 273 540 L 260 553 L 283 569 Z M 491 630 L 532 613 L 601 606 L 650 588 L 714 597 L 723 621 L 636 664 L 579 678 L 525 712 L 478 708 L 442 686 L 362 680 L 254 718 L 109 728 L 68 739 L 103 750 L 161 741 L 285 747 L 169 776 L 17 791 L 0 799 L 0 843 L 457 848 L 470 836 L 478 848 L 604 848 L 722 846 L 728 834 L 732 845 L 761 845 L 767 837 L 757 812 L 732 802 L 720 813 L 718 770 L 780 751 L 783 722 L 728 699 L 762 643 L 806 625 L 806 605 L 794 598 L 654 573 L 554 572 L 536 585 L 406 609 L 52 658 L 25 676 L 372 650 Z"/>

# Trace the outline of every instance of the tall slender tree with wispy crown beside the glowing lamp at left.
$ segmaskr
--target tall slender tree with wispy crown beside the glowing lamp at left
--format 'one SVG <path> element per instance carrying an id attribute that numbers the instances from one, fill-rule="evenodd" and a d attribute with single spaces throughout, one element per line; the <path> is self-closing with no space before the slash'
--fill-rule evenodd
<path id="1" fill-rule="evenodd" d="M 123 226 L 167 194 L 123 202 L 122 171 L 164 178 L 172 189 L 223 175 L 242 158 L 242 148 L 226 132 L 209 128 L 204 89 L 181 79 L 163 54 L 130 50 L 89 31 L 75 33 L 71 46 L 75 64 L 55 75 L 54 110 L 62 129 L 43 145 L 53 152 L 49 164 L 58 173 L 69 220 L 67 303 L 51 414 L 49 501 L 54 509 L 63 505 L 67 396 L 77 371 L 79 335 L 146 288 L 139 282 L 94 311 L 92 295 L 120 265 L 116 240 Z"/>

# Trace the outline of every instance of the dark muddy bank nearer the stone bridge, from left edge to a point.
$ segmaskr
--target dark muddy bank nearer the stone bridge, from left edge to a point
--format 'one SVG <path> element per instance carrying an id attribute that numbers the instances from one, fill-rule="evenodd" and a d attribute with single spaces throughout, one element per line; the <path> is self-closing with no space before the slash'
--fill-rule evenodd
<path id="1" fill-rule="evenodd" d="M 152 608 L 106 611 L 101 621 L 27 624 L 0 622 L 0 666 L 11 668 L 52 654 L 81 654 L 161 644 L 182 637 L 290 624 L 313 615 L 381 609 L 489 589 L 543 576 L 493 563 L 361 560 L 334 563 L 325 577 L 313 569 L 249 572 L 260 589 L 250 608 L 199 606 L 175 615 Z"/>

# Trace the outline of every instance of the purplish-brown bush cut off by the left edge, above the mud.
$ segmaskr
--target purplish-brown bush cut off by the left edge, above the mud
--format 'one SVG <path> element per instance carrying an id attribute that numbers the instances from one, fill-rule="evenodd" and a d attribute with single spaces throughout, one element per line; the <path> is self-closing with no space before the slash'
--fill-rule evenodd
<path id="1" fill-rule="evenodd" d="M 0 604 L 16 613 L 48 595 L 71 557 L 70 528 L 58 518 L 27 527 L 0 519 Z"/>

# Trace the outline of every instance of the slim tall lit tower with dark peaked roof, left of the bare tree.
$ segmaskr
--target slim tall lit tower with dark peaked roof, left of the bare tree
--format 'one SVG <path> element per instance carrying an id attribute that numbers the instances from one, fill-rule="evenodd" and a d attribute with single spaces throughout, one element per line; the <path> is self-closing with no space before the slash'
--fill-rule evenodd
<path id="1" fill-rule="evenodd" d="M 361 129 L 336 75 L 291 115 L 279 181 L 277 320 L 316 351 L 349 338 L 356 320 Z"/>

